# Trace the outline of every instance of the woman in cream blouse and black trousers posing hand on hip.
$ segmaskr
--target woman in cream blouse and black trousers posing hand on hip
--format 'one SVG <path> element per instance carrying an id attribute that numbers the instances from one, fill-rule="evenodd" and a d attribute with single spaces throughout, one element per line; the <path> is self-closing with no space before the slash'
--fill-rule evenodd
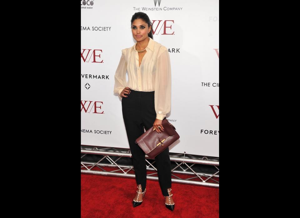
<path id="1" fill-rule="evenodd" d="M 122 113 L 133 157 L 137 193 L 133 207 L 141 205 L 146 192 L 145 153 L 135 143 L 144 128 L 164 131 L 163 119 L 171 109 L 171 65 L 168 49 L 153 40 L 152 23 L 147 14 L 137 12 L 131 19 L 131 31 L 137 41 L 122 50 L 115 74 L 114 92 L 122 99 Z M 128 82 L 126 82 L 126 70 Z M 166 207 L 173 211 L 169 149 L 155 157 L 159 184 Z"/>

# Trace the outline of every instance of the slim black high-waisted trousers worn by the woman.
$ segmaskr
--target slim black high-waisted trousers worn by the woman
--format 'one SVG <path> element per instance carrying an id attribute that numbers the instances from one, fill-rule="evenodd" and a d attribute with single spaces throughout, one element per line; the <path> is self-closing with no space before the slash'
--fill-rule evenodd
<path id="1" fill-rule="evenodd" d="M 131 90 L 128 97 L 122 98 L 123 119 L 128 137 L 128 142 L 133 159 L 135 179 L 137 185 L 142 185 L 142 191 L 146 188 L 146 159 L 144 151 L 135 143 L 135 140 L 145 131 L 153 128 L 156 119 L 154 108 L 154 91 L 140 92 Z M 166 119 L 166 118 L 164 118 Z M 163 196 L 168 195 L 171 188 L 171 163 L 169 148 L 155 157 L 159 185 Z"/>

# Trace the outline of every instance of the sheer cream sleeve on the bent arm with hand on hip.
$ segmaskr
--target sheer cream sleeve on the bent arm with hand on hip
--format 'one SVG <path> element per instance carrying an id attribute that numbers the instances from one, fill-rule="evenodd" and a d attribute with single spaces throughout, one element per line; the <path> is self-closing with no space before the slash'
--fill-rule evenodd
<path id="1" fill-rule="evenodd" d="M 122 50 L 122 56 L 119 62 L 119 65 L 117 67 L 116 73 L 115 73 L 115 86 L 113 88 L 114 93 L 118 93 L 119 97 L 120 93 L 123 91 L 123 89 L 126 86 L 126 58 L 125 58 L 125 52 L 126 49 Z"/>

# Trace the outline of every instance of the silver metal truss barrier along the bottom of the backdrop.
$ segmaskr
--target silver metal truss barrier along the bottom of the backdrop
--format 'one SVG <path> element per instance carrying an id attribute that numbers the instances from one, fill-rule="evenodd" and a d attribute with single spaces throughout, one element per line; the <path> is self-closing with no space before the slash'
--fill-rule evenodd
<path id="1" fill-rule="evenodd" d="M 87 154 L 94 154 L 94 155 L 96 154 L 99 155 L 99 159 L 101 158 L 98 162 L 81 161 L 81 173 L 135 178 L 135 174 L 128 173 L 131 170 L 134 171 L 133 166 L 118 164 L 118 160 L 120 158 L 132 157 L 130 153 L 130 149 L 81 145 L 81 154 L 83 154 L 81 158 L 83 158 Z M 119 158 L 113 161 L 111 156 L 118 156 Z M 157 169 L 153 166 L 155 160 L 150 159 L 147 155 L 145 155 L 145 157 L 146 157 L 147 171 L 154 172 L 154 173 L 147 174 L 147 179 L 158 181 Z M 101 162 L 104 159 L 108 160 L 109 163 Z M 177 165 L 171 170 L 172 176 L 176 178 L 176 179 L 172 178 L 172 182 L 217 187 L 217 188 L 219 187 L 219 157 L 205 157 L 205 156 L 198 156 L 198 155 L 190 155 L 186 153 L 180 154 L 180 153 L 170 152 L 170 161 L 171 163 L 172 161 L 175 162 Z M 200 165 L 211 165 L 213 166 L 214 170 L 212 173 L 197 172 L 197 169 L 201 168 L 199 167 Z M 185 166 L 186 168 L 184 169 L 183 167 Z M 102 171 L 92 170 L 94 167 L 98 167 Z M 118 169 L 112 171 L 106 171 L 102 167 L 112 167 Z M 195 168 L 197 169 L 193 170 L 192 167 L 194 169 Z M 155 174 L 156 176 L 153 176 Z M 174 174 L 183 174 L 185 175 L 184 177 L 187 176 L 189 177 L 183 179 Z M 198 181 L 192 179 L 197 179 Z"/>

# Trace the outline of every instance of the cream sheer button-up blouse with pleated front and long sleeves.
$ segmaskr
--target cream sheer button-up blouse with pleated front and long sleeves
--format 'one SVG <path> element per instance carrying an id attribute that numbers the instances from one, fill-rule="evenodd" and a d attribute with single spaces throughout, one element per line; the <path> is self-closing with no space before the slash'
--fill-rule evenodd
<path id="1" fill-rule="evenodd" d="M 141 66 L 138 66 L 136 43 L 132 47 L 122 50 L 115 73 L 114 92 L 118 93 L 120 97 L 120 93 L 125 87 L 143 92 L 155 91 L 156 118 L 163 120 L 171 110 L 171 64 L 168 49 L 149 37 L 147 52 Z M 126 71 L 128 72 L 128 81 L 126 81 Z"/>

